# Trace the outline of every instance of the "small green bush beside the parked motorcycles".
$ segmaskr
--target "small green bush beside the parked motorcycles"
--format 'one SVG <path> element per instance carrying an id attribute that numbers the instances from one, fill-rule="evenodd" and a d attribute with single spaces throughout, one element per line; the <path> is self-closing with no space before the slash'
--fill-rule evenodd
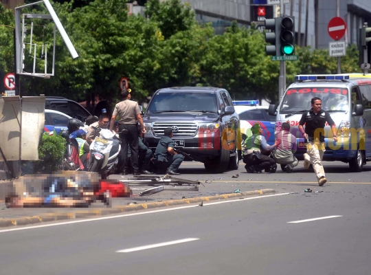
<path id="1" fill-rule="evenodd" d="M 60 135 L 44 133 L 38 146 L 38 170 L 52 172 L 62 164 L 66 151 L 66 140 Z"/>

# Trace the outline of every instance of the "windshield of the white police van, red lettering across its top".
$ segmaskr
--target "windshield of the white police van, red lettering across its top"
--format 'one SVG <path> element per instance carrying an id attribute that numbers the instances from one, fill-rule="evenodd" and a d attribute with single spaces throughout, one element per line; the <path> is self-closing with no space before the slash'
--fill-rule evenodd
<path id="1" fill-rule="evenodd" d="M 311 99 L 321 98 L 325 111 L 348 111 L 348 89 L 344 87 L 297 87 L 287 90 L 281 113 L 311 109 Z"/>

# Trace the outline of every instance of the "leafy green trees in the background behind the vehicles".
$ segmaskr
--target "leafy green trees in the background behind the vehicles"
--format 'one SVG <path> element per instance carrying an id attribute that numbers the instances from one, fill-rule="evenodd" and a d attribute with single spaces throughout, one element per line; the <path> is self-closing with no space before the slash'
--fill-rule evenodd
<path id="1" fill-rule="evenodd" d="M 126 76 L 139 102 L 162 87 L 195 85 L 224 87 L 236 99 L 278 100 L 280 63 L 265 56 L 264 34 L 256 25 L 238 28 L 232 23 L 223 35 L 215 36 L 211 25 L 199 25 L 190 5 L 180 0 L 149 0 L 146 18 L 128 16 L 126 0 L 55 0 L 53 6 L 79 57 L 72 59 L 57 35 L 55 76 L 21 77 L 23 96 L 74 100 L 98 96 L 114 103 L 120 77 Z M 25 12 L 47 13 L 43 5 Z M 14 25 L 12 12 L 2 5 L 0 21 Z M 52 28 L 45 28 L 49 45 Z M 34 37 L 41 40 L 41 33 Z M 287 85 L 296 74 L 337 72 L 337 58 L 328 56 L 327 49 L 296 47 L 296 54 L 300 61 L 286 62 Z M 14 72 L 13 63 L 12 28 L 0 27 L 0 69 Z M 360 72 L 355 45 L 341 58 L 341 70 Z"/>

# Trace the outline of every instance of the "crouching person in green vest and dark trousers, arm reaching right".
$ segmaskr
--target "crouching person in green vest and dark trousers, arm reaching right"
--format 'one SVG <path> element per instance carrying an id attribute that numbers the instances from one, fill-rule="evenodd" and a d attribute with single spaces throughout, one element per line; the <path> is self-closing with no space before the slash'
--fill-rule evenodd
<path id="1" fill-rule="evenodd" d="M 260 148 L 265 151 L 273 151 L 280 144 L 280 140 L 276 140 L 273 145 L 267 144 L 267 140 L 262 136 L 260 124 L 256 123 L 251 127 L 252 135 L 247 137 L 243 145 L 243 162 L 246 164 L 247 173 L 260 173 L 265 170 L 268 173 L 275 173 L 277 164 L 271 157 L 263 155 Z"/>

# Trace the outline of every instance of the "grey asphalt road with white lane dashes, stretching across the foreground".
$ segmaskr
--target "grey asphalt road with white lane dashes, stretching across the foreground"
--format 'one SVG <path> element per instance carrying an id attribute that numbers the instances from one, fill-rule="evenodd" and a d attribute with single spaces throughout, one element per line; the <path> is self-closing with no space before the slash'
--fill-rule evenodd
<path id="1" fill-rule="evenodd" d="M 318 188 L 302 168 L 251 175 L 242 166 L 238 181 L 231 171 L 219 183 L 183 165 L 224 190 L 280 194 L 0 230 L 0 273 L 370 274 L 371 169 L 347 167 L 326 163 L 330 182 Z"/>

